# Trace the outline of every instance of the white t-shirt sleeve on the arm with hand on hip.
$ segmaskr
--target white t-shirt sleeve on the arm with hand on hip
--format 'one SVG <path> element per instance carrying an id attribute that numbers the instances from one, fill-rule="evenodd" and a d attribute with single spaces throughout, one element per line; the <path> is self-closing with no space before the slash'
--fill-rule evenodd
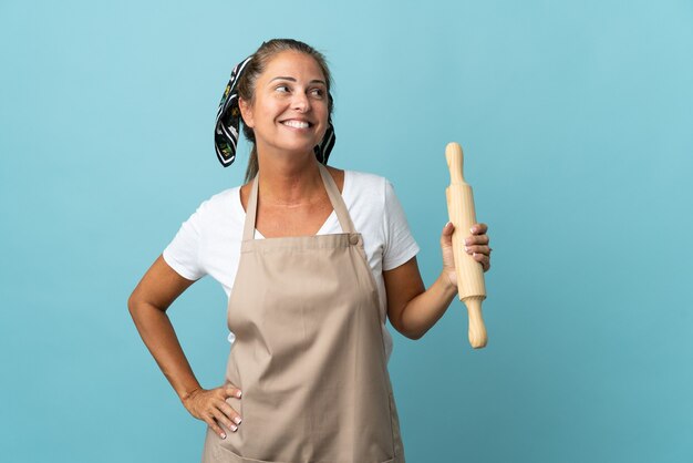
<path id="1" fill-rule="evenodd" d="M 178 233 L 163 253 L 166 264 L 188 280 L 198 280 L 207 275 L 199 259 L 204 207 L 205 203 L 180 225 Z"/>

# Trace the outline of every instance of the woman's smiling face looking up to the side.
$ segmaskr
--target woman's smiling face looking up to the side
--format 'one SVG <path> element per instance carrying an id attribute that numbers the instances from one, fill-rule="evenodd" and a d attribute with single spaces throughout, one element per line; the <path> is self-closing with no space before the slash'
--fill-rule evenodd
<path id="1" fill-rule="evenodd" d="M 316 60 L 304 53 L 275 55 L 257 80 L 252 104 L 240 100 L 258 152 L 312 153 L 328 124 L 328 88 Z"/>

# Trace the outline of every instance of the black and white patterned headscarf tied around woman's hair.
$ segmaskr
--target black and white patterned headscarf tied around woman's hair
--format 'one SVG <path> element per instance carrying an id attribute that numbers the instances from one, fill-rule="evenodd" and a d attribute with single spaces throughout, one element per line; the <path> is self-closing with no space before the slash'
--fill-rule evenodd
<path id="1" fill-rule="evenodd" d="M 248 62 L 254 55 L 246 58 L 240 63 L 236 64 L 234 71 L 231 71 L 231 79 L 226 85 L 224 96 L 219 102 L 219 109 L 217 110 L 217 122 L 214 131 L 214 145 L 217 152 L 217 157 L 224 167 L 230 166 L 236 160 L 236 145 L 238 143 L 238 128 L 240 127 L 240 107 L 238 105 L 238 81 L 242 75 Z M 328 93 L 329 104 L 332 107 L 332 94 Z M 316 157 L 322 164 L 328 163 L 330 152 L 334 147 L 334 126 L 332 125 L 332 116 L 328 117 L 328 130 L 322 137 L 320 144 L 316 145 L 313 151 Z"/>

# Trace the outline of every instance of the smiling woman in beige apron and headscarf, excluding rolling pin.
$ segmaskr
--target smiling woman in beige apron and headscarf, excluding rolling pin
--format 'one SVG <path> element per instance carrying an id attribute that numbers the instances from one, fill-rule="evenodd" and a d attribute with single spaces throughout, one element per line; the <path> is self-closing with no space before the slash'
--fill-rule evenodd
<path id="1" fill-rule="evenodd" d="M 147 348 L 208 424 L 203 462 L 404 462 L 385 316 L 411 339 L 443 316 L 457 292 L 453 226 L 426 290 L 390 183 L 323 165 L 331 112 L 324 58 L 302 42 L 271 40 L 236 66 L 215 142 L 229 165 L 242 117 L 247 183 L 203 203 L 130 298 Z M 488 270 L 486 230 L 466 244 Z M 166 316 L 207 274 L 229 295 L 232 341 L 225 384 L 209 390 Z"/>

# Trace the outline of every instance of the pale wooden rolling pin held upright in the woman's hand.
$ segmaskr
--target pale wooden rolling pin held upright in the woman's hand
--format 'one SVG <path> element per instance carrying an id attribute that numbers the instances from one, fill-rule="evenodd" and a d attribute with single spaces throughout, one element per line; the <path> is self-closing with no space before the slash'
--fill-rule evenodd
<path id="1" fill-rule="evenodd" d="M 488 340 L 482 318 L 482 301 L 486 299 L 484 269 L 482 264 L 474 260 L 464 249 L 464 239 L 469 236 L 472 226 L 476 224 L 474 196 L 462 171 L 462 146 L 457 143 L 448 143 L 445 147 L 445 157 L 451 177 L 445 196 L 449 222 L 455 226 L 453 255 L 457 274 L 457 291 L 459 300 L 465 302 L 469 315 L 469 343 L 473 348 L 479 349 L 485 347 Z"/>

